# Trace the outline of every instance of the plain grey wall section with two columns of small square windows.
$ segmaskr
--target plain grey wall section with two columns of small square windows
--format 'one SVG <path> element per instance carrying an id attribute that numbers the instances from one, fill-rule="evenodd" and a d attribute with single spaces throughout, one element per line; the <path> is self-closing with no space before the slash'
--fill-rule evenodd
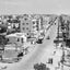
<path id="1" fill-rule="evenodd" d="M 32 21 L 28 14 L 24 14 L 23 18 L 21 19 L 20 28 L 21 28 L 21 33 L 26 33 L 27 36 L 31 35 Z"/>

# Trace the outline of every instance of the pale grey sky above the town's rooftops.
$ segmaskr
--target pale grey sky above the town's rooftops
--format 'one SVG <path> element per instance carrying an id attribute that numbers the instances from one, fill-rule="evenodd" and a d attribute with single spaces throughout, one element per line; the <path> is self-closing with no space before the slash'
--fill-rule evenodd
<path id="1" fill-rule="evenodd" d="M 70 0 L 0 0 L 0 14 L 70 14 Z"/>

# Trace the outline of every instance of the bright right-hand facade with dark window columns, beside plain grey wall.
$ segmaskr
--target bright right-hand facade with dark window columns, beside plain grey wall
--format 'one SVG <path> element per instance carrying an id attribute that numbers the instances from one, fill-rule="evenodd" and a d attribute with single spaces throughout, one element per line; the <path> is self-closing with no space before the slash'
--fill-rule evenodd
<path id="1" fill-rule="evenodd" d="M 36 15 L 33 20 L 33 34 L 35 37 L 38 37 L 44 30 L 43 27 L 43 18 L 40 15 Z"/>

